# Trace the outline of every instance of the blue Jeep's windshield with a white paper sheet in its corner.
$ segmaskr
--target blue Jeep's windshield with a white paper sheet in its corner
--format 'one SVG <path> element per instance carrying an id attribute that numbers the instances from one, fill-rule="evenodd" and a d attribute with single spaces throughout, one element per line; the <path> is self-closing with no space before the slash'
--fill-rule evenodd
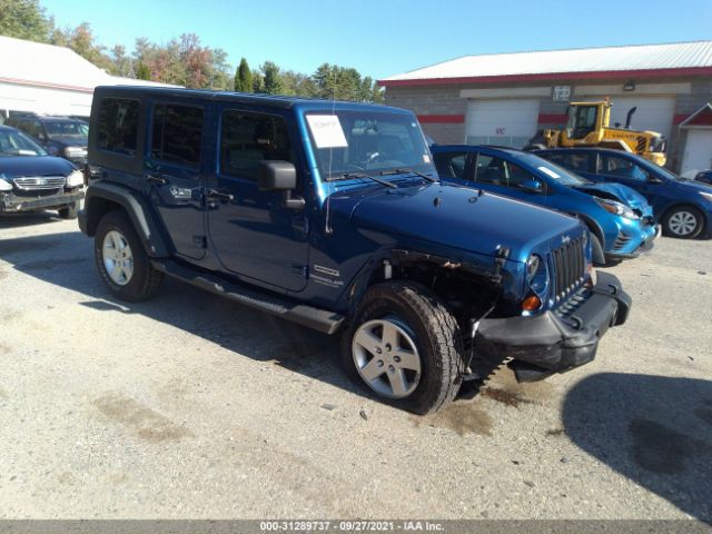
<path id="1" fill-rule="evenodd" d="M 434 174 L 423 131 L 413 116 L 388 111 L 307 112 L 306 122 L 323 179 L 388 170 Z"/>

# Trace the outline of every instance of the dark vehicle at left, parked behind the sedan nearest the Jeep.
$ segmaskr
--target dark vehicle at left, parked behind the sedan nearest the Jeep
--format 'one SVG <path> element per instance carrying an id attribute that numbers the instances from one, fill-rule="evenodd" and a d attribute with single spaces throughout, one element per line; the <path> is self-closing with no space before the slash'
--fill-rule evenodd
<path id="1" fill-rule="evenodd" d="M 82 168 L 87 162 L 89 125 L 69 117 L 21 115 L 10 117 L 13 126 L 32 137 L 52 156 L 60 156 Z"/>

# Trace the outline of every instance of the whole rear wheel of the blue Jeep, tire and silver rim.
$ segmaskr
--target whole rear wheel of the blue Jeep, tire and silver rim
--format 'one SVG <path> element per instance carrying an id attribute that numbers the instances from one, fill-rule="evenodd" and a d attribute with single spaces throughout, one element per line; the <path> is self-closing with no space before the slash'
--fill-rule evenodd
<path id="1" fill-rule="evenodd" d="M 122 210 L 109 211 L 99 221 L 95 258 L 103 283 L 121 300 L 149 299 L 164 277 L 151 266 L 131 220 Z"/>

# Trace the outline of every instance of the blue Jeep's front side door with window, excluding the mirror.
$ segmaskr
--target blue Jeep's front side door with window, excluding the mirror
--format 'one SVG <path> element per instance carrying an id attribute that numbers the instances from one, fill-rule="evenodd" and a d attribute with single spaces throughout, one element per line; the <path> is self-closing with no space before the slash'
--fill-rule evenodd
<path id="1" fill-rule="evenodd" d="M 226 271 L 290 291 L 307 284 L 308 219 L 284 207 L 281 191 L 260 191 L 260 161 L 300 168 L 285 116 L 225 105 L 219 112 L 219 165 L 208 197 L 211 246 Z M 293 195 L 301 195 L 304 175 Z"/>

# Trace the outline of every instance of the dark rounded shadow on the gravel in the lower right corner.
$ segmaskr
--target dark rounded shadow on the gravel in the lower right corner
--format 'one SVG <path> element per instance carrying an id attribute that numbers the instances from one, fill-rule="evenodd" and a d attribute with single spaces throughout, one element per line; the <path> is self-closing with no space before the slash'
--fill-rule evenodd
<path id="1" fill-rule="evenodd" d="M 712 382 L 589 376 L 567 393 L 563 422 L 586 453 L 712 523 Z"/>

